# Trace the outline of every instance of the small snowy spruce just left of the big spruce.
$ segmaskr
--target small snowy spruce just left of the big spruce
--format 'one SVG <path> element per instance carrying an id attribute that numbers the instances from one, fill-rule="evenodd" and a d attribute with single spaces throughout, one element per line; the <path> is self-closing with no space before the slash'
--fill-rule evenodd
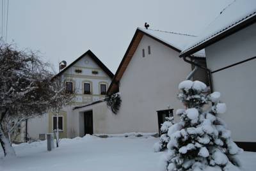
<path id="1" fill-rule="evenodd" d="M 159 138 L 159 142 L 156 142 L 154 144 L 154 151 L 164 151 L 167 148 L 167 144 L 170 140 L 170 137 L 168 136 L 167 132 L 168 129 L 174 124 L 173 117 L 166 117 L 166 121 L 161 125 L 160 131 L 161 136 Z"/>

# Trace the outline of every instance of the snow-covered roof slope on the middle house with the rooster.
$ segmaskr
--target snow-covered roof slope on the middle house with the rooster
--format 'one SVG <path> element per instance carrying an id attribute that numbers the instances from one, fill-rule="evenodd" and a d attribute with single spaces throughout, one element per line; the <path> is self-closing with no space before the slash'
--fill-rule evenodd
<path id="1" fill-rule="evenodd" d="M 197 38 L 197 36 L 191 34 L 144 29 L 140 27 L 138 29 L 140 31 L 143 31 L 144 33 L 149 34 L 150 36 L 153 36 L 154 38 L 157 38 L 158 40 L 163 41 L 164 43 L 167 43 L 168 45 L 174 48 L 177 48 L 180 52 L 184 50 L 184 48 L 186 48 L 190 43 L 195 41 Z M 204 50 L 200 50 L 199 52 L 193 54 L 193 56 L 205 57 L 205 52 Z"/>

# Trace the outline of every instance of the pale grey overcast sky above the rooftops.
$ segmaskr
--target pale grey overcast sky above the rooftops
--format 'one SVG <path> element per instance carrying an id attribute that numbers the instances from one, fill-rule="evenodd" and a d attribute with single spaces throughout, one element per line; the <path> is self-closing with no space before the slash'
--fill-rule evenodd
<path id="1" fill-rule="evenodd" d="M 5 0 L 7 2 L 7 0 Z M 9 0 L 8 37 L 45 61 L 88 49 L 115 73 L 137 27 L 197 35 L 234 0 Z"/>

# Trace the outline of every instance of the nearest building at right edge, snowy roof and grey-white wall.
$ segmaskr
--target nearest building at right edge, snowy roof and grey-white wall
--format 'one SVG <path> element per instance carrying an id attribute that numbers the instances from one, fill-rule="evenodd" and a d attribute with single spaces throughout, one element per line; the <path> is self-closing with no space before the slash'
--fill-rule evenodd
<path id="1" fill-rule="evenodd" d="M 213 91 L 220 91 L 232 138 L 256 151 L 256 1 L 234 1 L 185 48 L 180 57 L 205 49 Z"/>

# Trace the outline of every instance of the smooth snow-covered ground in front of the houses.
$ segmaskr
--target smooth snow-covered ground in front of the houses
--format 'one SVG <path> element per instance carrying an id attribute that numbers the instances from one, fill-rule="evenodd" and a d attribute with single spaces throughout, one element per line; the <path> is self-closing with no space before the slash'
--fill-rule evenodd
<path id="1" fill-rule="evenodd" d="M 0 170 L 111 170 L 157 171 L 163 152 L 154 152 L 154 137 L 111 137 L 62 139 L 60 147 L 48 152 L 46 142 L 15 145 L 17 158 L 0 159 Z M 3 158 L 3 151 L 0 151 Z M 256 152 L 239 156 L 245 171 L 256 168 Z"/>

